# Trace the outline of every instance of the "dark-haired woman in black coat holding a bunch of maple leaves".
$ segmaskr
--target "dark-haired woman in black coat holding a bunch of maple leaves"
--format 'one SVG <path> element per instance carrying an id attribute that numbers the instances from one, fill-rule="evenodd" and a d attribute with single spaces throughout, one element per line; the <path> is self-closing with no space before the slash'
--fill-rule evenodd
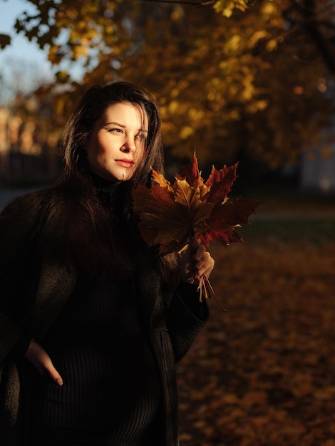
<path id="1" fill-rule="evenodd" d="M 214 266 L 140 239 L 131 200 L 163 172 L 158 105 L 93 87 L 71 115 L 58 183 L 0 217 L 1 444 L 175 446 L 175 361 L 208 318 Z M 1 438 L 0 437 L 0 438 Z"/>

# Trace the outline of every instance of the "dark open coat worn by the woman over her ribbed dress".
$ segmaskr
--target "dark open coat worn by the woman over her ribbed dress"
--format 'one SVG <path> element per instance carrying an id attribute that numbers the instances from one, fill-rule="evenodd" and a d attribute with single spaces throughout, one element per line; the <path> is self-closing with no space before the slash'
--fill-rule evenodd
<path id="1" fill-rule="evenodd" d="M 36 255 L 36 237 L 46 195 L 14 199 L 0 214 L 0 443 L 23 446 L 27 410 L 22 387 L 24 353 L 31 337 L 41 341 L 71 296 L 75 269 L 56 258 Z M 175 362 L 187 353 L 208 318 L 195 286 L 181 283 L 174 294 L 160 291 L 160 276 L 150 256 L 138 259 L 140 318 L 163 389 L 163 406 L 148 444 L 177 446 Z M 192 306 L 192 310 L 190 307 Z M 195 308 L 197 308 L 195 310 Z"/>

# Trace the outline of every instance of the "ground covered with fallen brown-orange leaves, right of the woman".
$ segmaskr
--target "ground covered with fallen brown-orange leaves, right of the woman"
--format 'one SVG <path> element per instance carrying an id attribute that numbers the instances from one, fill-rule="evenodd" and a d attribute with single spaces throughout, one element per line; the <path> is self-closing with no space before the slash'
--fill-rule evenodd
<path id="1" fill-rule="evenodd" d="M 335 446 L 335 220 L 212 244 L 211 318 L 177 365 L 182 446 Z"/>

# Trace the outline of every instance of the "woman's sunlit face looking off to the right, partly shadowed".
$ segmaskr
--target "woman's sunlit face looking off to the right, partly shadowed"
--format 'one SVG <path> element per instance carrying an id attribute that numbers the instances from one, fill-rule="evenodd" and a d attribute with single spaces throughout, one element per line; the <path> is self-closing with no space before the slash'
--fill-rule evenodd
<path id="1" fill-rule="evenodd" d="M 105 180 L 129 180 L 142 160 L 148 117 L 131 103 L 109 105 L 85 144 L 91 171 Z"/>

